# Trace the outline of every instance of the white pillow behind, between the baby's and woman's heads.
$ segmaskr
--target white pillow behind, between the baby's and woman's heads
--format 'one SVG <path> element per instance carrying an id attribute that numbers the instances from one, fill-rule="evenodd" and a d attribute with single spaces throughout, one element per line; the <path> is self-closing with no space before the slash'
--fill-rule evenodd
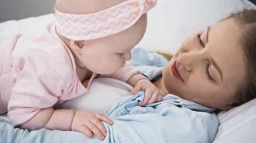
<path id="1" fill-rule="evenodd" d="M 137 47 L 175 53 L 190 34 L 249 5 L 247 0 L 158 0 L 148 12 L 148 28 Z"/>

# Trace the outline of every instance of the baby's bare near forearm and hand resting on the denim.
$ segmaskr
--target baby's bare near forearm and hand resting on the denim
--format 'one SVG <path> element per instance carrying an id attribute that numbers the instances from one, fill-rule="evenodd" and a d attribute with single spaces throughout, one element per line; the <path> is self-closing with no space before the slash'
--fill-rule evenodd
<path id="1" fill-rule="evenodd" d="M 113 121 L 99 113 L 86 110 L 74 112 L 70 109 L 54 110 L 53 108 L 45 108 L 19 127 L 31 131 L 42 128 L 76 131 L 82 132 L 90 138 L 93 138 L 93 134 L 95 134 L 100 140 L 104 140 L 105 136 L 107 136 L 107 131 L 101 121 L 113 125 Z"/>

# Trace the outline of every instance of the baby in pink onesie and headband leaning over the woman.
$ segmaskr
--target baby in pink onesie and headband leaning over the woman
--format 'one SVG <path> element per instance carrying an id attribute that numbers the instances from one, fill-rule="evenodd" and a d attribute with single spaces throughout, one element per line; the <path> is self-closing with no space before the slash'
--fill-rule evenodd
<path id="1" fill-rule="evenodd" d="M 134 87 L 131 94 L 144 90 L 145 99 L 140 106 L 161 101 L 157 87 L 126 63 L 131 59 L 131 49 L 145 34 L 146 13 L 156 3 L 157 0 L 56 0 L 57 22 L 19 37 L 7 53 L 11 55 L 10 62 L 7 57 L 6 66 L 0 66 L 12 71 L 0 75 L 0 82 L 6 85 L 0 89 L 2 113 L 9 101 L 8 115 L 13 126 L 72 130 L 88 137 L 94 133 L 104 139 L 107 133 L 100 121 L 113 124 L 106 116 L 53 108 L 87 92 L 91 81 L 100 77 L 130 84 Z"/>

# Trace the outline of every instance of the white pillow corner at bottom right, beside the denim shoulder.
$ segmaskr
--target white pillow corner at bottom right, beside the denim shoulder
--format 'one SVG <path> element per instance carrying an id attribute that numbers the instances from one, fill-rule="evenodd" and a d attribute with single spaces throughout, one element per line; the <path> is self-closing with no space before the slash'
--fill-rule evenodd
<path id="1" fill-rule="evenodd" d="M 256 99 L 218 114 L 218 132 L 213 143 L 256 142 Z"/>

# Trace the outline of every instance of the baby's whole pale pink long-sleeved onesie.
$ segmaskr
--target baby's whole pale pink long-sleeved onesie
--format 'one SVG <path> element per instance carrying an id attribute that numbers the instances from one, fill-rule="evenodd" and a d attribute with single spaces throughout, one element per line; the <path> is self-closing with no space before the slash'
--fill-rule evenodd
<path id="1" fill-rule="evenodd" d="M 99 77 L 93 73 L 87 87 L 83 86 L 76 74 L 74 57 L 55 28 L 55 23 L 52 23 L 44 31 L 23 35 L 17 39 L 14 48 L 10 46 L 11 50 L 7 49 L 7 53 L 0 55 L 10 55 L 5 56 L 6 59 L 10 58 L 10 62 L 6 59 L 6 62 L 0 62 L 0 68 L 7 69 L 0 69 L 0 104 L 3 105 L 0 113 L 7 111 L 9 100 L 8 115 L 13 126 L 25 123 L 41 109 L 57 107 L 82 95 L 90 82 Z M 1 71 L 11 71 L 11 74 Z M 115 73 L 100 77 L 127 82 L 137 73 L 140 71 L 127 63 Z"/>

